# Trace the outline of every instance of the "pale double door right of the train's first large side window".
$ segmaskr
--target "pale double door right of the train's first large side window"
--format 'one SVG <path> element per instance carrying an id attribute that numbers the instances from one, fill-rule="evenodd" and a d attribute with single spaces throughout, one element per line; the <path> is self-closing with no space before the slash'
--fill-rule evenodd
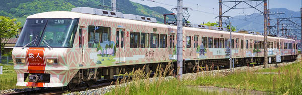
<path id="1" fill-rule="evenodd" d="M 117 63 L 125 63 L 125 46 L 124 46 L 125 29 L 116 29 L 116 56 Z"/>

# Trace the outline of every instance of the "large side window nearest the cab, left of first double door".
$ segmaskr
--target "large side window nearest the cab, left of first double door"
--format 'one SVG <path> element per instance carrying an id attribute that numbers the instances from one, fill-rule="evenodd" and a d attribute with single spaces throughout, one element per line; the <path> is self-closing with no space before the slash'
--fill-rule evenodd
<path id="1" fill-rule="evenodd" d="M 89 48 L 110 48 L 110 27 L 88 27 Z"/>

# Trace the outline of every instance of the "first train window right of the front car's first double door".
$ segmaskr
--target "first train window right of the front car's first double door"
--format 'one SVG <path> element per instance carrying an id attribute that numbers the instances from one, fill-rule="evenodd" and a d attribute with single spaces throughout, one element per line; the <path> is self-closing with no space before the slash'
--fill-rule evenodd
<path id="1" fill-rule="evenodd" d="M 130 32 L 130 48 L 139 48 L 139 32 Z"/>

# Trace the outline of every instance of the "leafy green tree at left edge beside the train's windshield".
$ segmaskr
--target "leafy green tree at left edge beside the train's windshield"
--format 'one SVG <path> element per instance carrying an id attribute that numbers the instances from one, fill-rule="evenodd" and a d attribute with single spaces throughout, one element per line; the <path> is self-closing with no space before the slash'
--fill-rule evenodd
<path id="1" fill-rule="evenodd" d="M 20 22 L 15 23 L 16 19 L 0 16 L 0 56 L 4 50 L 4 45 L 17 34 Z M 0 58 L 1 60 L 1 58 Z"/>

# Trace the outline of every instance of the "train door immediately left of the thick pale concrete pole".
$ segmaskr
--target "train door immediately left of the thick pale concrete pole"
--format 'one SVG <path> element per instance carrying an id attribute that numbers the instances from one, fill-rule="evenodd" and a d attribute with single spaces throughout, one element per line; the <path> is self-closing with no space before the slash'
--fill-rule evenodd
<path id="1" fill-rule="evenodd" d="M 170 60 L 175 60 L 176 59 L 176 47 L 175 47 L 175 34 L 171 33 L 169 35 L 169 59 Z"/>

